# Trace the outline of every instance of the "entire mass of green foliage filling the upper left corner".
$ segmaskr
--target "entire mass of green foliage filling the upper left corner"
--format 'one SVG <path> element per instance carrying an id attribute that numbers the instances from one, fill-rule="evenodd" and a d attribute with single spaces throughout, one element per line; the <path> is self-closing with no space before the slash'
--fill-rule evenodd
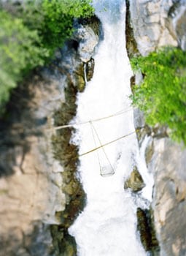
<path id="1" fill-rule="evenodd" d="M 71 37 L 74 18 L 92 14 L 90 0 L 0 0 L 1 110 L 18 81 Z"/>

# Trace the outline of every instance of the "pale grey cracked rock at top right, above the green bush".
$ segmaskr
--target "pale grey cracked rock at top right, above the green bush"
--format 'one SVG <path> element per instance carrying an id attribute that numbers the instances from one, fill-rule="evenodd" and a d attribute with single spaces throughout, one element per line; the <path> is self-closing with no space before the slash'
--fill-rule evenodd
<path id="1" fill-rule="evenodd" d="M 131 25 L 142 55 L 163 45 L 185 49 L 185 1 L 130 1 Z"/>

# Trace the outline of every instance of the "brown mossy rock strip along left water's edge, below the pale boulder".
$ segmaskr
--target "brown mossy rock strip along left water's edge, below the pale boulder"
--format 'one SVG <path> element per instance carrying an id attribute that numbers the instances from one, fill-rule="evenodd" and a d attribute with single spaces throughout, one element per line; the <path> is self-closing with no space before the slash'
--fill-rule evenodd
<path id="1" fill-rule="evenodd" d="M 75 74 L 80 78 L 81 74 L 79 72 L 82 72 L 82 70 L 78 69 Z M 65 89 L 66 102 L 62 103 L 61 108 L 56 110 L 53 116 L 56 127 L 68 124 L 71 118 L 76 115 L 76 94 L 77 83 L 74 84 L 69 79 L 68 86 Z M 78 164 L 78 148 L 70 143 L 71 132 L 73 131 L 72 128 L 59 129 L 51 138 L 53 156 L 63 165 L 62 190 L 66 195 L 65 210 L 55 212 L 55 218 L 60 224 L 50 226 L 53 236 L 53 251 L 56 256 L 77 255 L 76 242 L 69 235 L 68 229 L 85 206 L 85 192 L 75 175 Z"/>

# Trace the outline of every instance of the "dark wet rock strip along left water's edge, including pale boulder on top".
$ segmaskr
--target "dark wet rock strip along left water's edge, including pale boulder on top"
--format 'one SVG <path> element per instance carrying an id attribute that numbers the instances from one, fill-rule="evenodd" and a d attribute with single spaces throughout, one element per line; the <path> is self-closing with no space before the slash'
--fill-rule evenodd
<path id="1" fill-rule="evenodd" d="M 88 26 L 87 22 L 84 20 L 80 24 L 81 29 L 77 30 L 77 34 L 74 35 L 77 40 L 75 41 L 77 42 L 76 44 L 72 44 L 74 51 L 72 51 L 69 42 L 61 52 L 61 56 L 64 57 L 55 63 L 55 67 L 61 72 L 66 83 L 64 89 L 66 101 L 61 104 L 61 108 L 58 108 L 53 115 L 55 127 L 68 124 L 76 115 L 77 91 L 82 92 L 85 89 L 86 80 L 90 80 L 93 77 L 94 60 L 92 55 L 96 44 L 94 45 L 93 43 L 94 47 L 91 45 L 91 49 L 86 48 L 86 45 L 98 35 L 94 34 L 94 30 Z M 96 22 L 97 26 L 99 26 L 98 20 L 93 18 L 94 26 L 96 26 Z M 84 23 L 86 24 L 84 25 Z M 78 31 L 80 32 L 79 35 Z M 88 36 L 90 31 L 91 33 Z M 94 37 L 92 37 L 93 34 Z M 84 44 L 85 48 L 82 49 Z M 86 60 L 82 59 L 82 56 L 85 57 L 85 55 L 88 57 Z M 77 255 L 76 243 L 74 238 L 69 236 L 68 229 L 85 206 L 85 192 L 76 175 L 78 148 L 70 143 L 71 132 L 74 132 L 74 129 L 58 129 L 52 137 L 54 157 L 63 166 L 63 192 L 66 196 L 66 206 L 63 211 L 55 211 L 55 217 L 59 220 L 59 225 L 52 225 L 50 228 L 55 255 L 63 256 Z"/>

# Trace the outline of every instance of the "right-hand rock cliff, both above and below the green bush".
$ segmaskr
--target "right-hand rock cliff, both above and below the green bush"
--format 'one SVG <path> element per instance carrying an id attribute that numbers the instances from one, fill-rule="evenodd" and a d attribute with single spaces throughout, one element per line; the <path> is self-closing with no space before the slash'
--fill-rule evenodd
<path id="1" fill-rule="evenodd" d="M 130 54 L 147 55 L 163 45 L 179 46 L 186 50 L 186 3 L 169 0 L 134 0 L 130 4 L 128 22 L 133 45 L 128 42 Z M 129 17 L 129 16 L 128 16 Z M 131 38 L 130 38 L 131 37 Z M 135 45 L 136 44 L 136 45 Z M 135 52 L 133 51 L 135 50 Z M 139 76 L 136 78 L 139 80 Z M 134 113 L 139 135 L 139 146 L 144 136 L 150 140 L 146 149 L 147 166 L 154 176 L 152 219 L 160 252 L 152 255 L 186 255 L 186 151 L 173 143 L 163 128 L 147 127 L 139 110 Z"/>

